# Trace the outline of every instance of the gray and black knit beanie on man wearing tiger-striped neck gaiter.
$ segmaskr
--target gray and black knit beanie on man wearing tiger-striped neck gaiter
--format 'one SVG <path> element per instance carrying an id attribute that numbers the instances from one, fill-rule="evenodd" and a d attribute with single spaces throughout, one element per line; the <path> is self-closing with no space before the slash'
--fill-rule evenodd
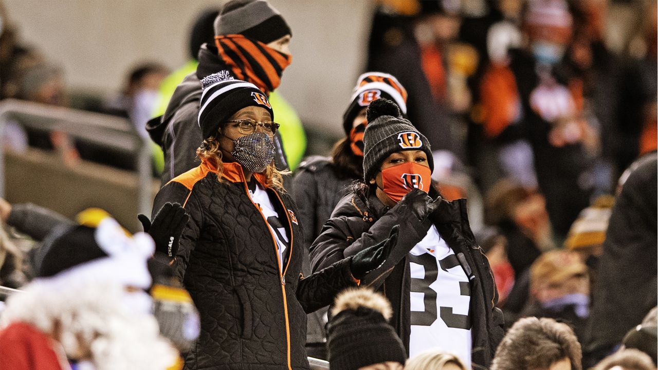
<path id="1" fill-rule="evenodd" d="M 215 19 L 215 35 L 240 34 L 252 40 L 270 43 L 292 35 L 290 26 L 266 0 L 232 0 Z"/>

